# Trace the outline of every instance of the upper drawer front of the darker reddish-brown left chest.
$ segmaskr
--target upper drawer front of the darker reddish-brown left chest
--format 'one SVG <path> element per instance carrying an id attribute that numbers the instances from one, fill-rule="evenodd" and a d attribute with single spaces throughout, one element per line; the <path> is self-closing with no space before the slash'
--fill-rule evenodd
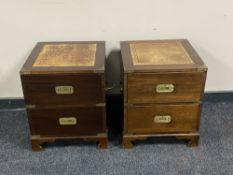
<path id="1" fill-rule="evenodd" d="M 26 104 L 75 105 L 104 102 L 101 75 L 22 76 Z"/>

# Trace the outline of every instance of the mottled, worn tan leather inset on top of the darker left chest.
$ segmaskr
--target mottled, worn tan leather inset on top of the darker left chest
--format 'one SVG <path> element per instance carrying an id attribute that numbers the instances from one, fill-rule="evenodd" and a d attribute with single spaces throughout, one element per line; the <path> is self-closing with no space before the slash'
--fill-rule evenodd
<path id="1" fill-rule="evenodd" d="M 34 67 L 94 66 L 96 44 L 46 44 Z"/>

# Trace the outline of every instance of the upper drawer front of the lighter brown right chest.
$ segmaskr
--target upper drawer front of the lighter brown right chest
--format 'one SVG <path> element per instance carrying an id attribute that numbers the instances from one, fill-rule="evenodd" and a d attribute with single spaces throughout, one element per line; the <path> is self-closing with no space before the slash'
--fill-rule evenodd
<path id="1" fill-rule="evenodd" d="M 128 75 L 128 103 L 198 102 L 205 76 L 204 72 Z"/>

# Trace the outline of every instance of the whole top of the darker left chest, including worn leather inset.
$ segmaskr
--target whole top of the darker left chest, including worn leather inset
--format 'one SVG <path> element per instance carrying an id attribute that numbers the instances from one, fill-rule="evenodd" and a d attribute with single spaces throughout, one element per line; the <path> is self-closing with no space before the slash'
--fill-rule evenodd
<path id="1" fill-rule="evenodd" d="M 39 42 L 24 64 L 22 74 L 104 72 L 105 43 Z"/>

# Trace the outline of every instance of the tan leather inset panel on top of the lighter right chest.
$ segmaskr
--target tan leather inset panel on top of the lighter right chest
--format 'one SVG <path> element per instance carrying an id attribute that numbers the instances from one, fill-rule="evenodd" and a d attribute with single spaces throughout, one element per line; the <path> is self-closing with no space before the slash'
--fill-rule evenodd
<path id="1" fill-rule="evenodd" d="M 180 42 L 131 43 L 130 51 L 134 65 L 194 64 Z"/>

